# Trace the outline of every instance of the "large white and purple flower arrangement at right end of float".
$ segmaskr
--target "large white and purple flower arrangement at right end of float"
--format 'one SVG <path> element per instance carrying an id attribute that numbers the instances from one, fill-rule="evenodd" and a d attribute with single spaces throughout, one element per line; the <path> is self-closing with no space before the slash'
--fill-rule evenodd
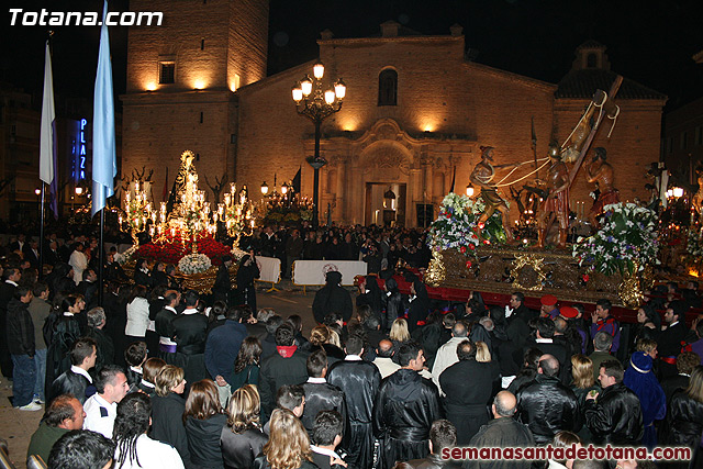
<path id="1" fill-rule="evenodd" d="M 592 263 L 603 273 L 633 273 L 635 264 L 644 270 L 649 263 L 659 264 L 657 215 L 634 203 L 614 203 L 603 208 L 605 219 L 593 236 L 579 237 L 573 257 L 579 265 Z"/>

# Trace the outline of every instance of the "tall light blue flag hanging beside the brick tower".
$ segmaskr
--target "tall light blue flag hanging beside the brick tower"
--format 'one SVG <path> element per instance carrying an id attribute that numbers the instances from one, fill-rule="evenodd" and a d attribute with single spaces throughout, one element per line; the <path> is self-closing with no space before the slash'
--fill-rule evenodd
<path id="1" fill-rule="evenodd" d="M 102 11 L 100 53 L 92 111 L 92 214 L 101 211 L 109 197 L 114 194 L 118 175 L 114 136 L 114 100 L 112 96 L 112 65 L 110 63 L 110 35 L 105 24 L 108 0 Z"/>

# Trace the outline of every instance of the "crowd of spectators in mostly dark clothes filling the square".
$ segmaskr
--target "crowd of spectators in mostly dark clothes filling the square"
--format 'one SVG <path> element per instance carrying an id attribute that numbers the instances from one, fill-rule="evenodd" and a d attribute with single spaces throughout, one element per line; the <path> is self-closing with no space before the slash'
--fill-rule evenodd
<path id="1" fill-rule="evenodd" d="M 668 286 L 641 305 L 629 334 L 607 300 L 588 312 L 545 295 L 532 311 L 521 292 L 500 305 L 473 292 L 439 310 L 415 273 L 393 269 L 401 258 L 422 266 L 424 235 L 330 228 L 330 253 L 349 238 L 358 252 L 338 253 L 380 249 L 379 276 L 352 294 L 331 272 L 312 311 L 286 319 L 236 295 L 185 290 L 168 269 L 146 265 L 134 284 L 110 279 L 100 304 L 92 239 L 74 237 L 69 261 L 57 254 L 42 281 L 9 246 L 0 366 L 13 377 L 18 411 L 44 410 L 27 457 L 51 468 L 528 468 L 440 455 L 612 444 L 689 447 L 692 461 L 673 465 L 701 467 L 703 322 L 685 323 L 696 286 Z M 276 254 L 276 236 L 255 234 L 252 255 Z M 301 238 L 304 250 L 304 239 L 321 236 Z M 310 334 L 301 315 L 315 319 Z"/>

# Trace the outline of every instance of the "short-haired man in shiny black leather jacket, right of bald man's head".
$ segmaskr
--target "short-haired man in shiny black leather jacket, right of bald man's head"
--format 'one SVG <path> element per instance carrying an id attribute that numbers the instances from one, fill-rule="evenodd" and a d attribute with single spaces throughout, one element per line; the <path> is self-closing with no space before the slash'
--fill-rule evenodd
<path id="1" fill-rule="evenodd" d="M 562 429 L 581 429 L 579 400 L 557 375 L 559 361 L 551 355 L 539 357 L 535 381 L 517 392 L 517 416 L 527 425 L 538 445 L 546 445 Z"/>

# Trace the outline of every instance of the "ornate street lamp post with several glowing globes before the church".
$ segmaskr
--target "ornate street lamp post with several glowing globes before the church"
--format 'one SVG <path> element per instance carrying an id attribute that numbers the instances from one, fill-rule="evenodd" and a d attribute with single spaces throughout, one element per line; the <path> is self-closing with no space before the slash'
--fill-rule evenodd
<path id="1" fill-rule="evenodd" d="M 342 109 L 342 101 L 346 96 L 346 86 L 342 78 L 334 83 L 334 89 L 326 88 L 322 79 L 325 74 L 325 67 L 317 62 L 313 66 L 313 77 L 305 75 L 293 87 L 293 101 L 295 101 L 295 110 L 300 115 L 304 115 L 315 124 L 315 153 L 305 160 L 314 169 L 313 181 L 313 213 L 312 224 L 319 226 L 320 214 L 320 168 L 327 164 L 327 160 L 320 155 L 320 138 L 322 121 Z"/>

